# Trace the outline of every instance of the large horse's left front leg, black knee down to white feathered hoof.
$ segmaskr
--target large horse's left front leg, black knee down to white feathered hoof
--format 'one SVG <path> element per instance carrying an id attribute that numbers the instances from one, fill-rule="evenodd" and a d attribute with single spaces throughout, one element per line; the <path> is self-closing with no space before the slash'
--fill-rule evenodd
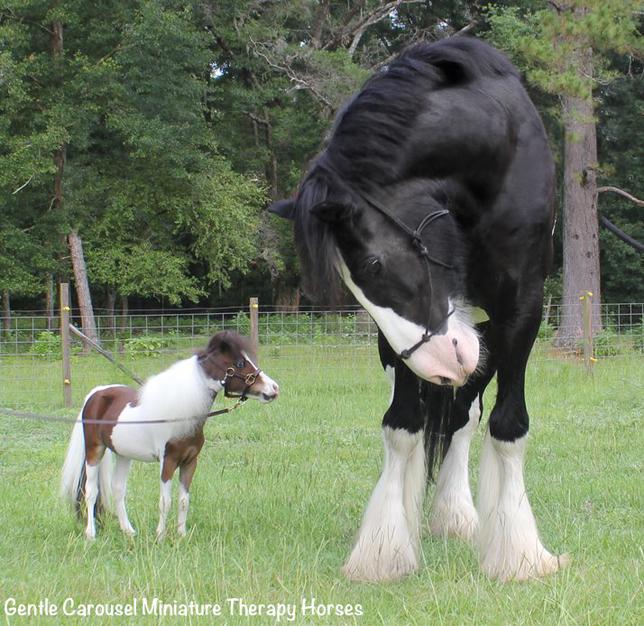
<path id="1" fill-rule="evenodd" d="M 381 359 L 393 385 L 382 424 L 384 467 L 343 568 L 348 578 L 358 581 L 395 580 L 418 569 L 425 493 L 418 380 L 400 361 L 395 363 L 389 352 L 381 345 Z"/>

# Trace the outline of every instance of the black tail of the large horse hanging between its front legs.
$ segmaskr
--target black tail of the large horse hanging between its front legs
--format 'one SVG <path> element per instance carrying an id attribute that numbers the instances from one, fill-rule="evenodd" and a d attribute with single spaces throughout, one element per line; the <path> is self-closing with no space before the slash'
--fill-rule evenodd
<path id="1" fill-rule="evenodd" d="M 434 479 L 452 439 L 454 390 L 419 381 L 420 408 L 425 416 L 425 466 L 427 480 Z"/>

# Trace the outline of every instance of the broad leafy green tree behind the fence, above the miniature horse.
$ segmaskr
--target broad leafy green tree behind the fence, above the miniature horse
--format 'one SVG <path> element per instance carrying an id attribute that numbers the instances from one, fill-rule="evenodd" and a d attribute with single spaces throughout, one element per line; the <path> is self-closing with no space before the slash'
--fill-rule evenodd
<path id="1" fill-rule="evenodd" d="M 87 302 L 81 249 L 92 291 L 112 302 L 196 301 L 248 271 L 265 194 L 219 153 L 223 121 L 204 109 L 209 40 L 190 4 L 11 0 L 1 11 L 12 45 L 0 53 L 0 163 L 15 175 L 0 185 L 19 189 L 3 203 L 28 207 L 14 227 L 46 224 L 59 272 L 69 242 Z"/>

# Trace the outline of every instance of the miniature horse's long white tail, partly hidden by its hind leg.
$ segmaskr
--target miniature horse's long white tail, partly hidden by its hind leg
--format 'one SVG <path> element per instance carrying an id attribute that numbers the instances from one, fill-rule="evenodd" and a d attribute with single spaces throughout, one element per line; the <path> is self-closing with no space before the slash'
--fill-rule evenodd
<path id="1" fill-rule="evenodd" d="M 72 428 L 72 434 L 67 446 L 67 454 L 63 463 L 60 481 L 61 497 L 73 505 L 78 517 L 82 517 L 83 503 L 85 500 L 85 436 L 83 434 L 83 409 Z M 111 507 L 112 496 L 112 454 L 107 450 L 101 460 L 98 472 L 98 499 L 96 501 L 96 515 Z"/>

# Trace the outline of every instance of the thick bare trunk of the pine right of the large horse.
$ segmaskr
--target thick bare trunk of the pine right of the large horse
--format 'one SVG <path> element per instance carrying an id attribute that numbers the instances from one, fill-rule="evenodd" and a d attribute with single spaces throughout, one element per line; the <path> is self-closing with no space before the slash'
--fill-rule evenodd
<path id="1" fill-rule="evenodd" d="M 580 48 L 576 70 L 592 76 L 592 50 Z M 597 137 L 592 93 L 563 96 L 565 127 L 563 211 L 563 298 L 558 347 L 572 348 L 583 333 L 580 296 L 592 293 L 593 333 L 601 330 Z"/>

